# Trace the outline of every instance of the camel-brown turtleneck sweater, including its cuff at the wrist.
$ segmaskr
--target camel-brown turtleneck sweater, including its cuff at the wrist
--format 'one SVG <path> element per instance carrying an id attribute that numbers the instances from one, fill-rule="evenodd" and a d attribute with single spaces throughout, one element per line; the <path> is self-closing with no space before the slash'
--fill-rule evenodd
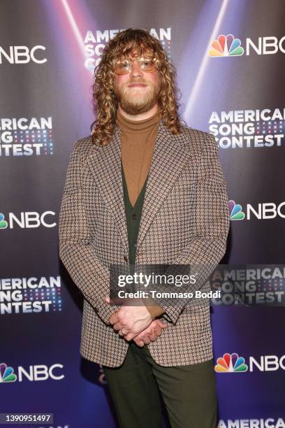
<path id="1" fill-rule="evenodd" d="M 160 119 L 160 110 L 152 117 L 138 121 L 126 119 L 117 110 L 117 124 L 121 130 L 122 164 L 132 206 L 136 204 L 149 172 Z M 161 306 L 154 306 L 151 299 L 143 300 L 153 319 L 164 313 Z"/>

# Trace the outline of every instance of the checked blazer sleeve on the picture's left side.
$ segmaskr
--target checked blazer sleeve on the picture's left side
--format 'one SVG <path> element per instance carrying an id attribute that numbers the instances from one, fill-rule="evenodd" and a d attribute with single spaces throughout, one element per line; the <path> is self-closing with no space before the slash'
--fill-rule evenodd
<path id="1" fill-rule="evenodd" d="M 66 172 L 59 212 L 59 258 L 75 285 L 105 324 L 117 309 L 105 303 L 110 294 L 110 274 L 92 245 L 86 213 L 86 187 L 80 142 L 75 141 Z"/>

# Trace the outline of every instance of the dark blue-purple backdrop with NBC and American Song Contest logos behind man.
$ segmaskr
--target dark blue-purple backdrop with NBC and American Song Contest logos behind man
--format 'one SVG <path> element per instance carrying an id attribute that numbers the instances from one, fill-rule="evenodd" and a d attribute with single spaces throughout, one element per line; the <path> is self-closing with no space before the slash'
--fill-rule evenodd
<path id="1" fill-rule="evenodd" d="M 254 304 L 212 306 L 219 427 L 285 427 L 284 16 L 284 0 L 1 1 L 0 413 L 116 426 L 101 367 L 79 354 L 82 295 L 57 234 L 73 142 L 94 120 L 94 66 L 133 27 L 175 65 L 187 124 L 216 137 L 231 199 L 223 263 L 251 266 L 228 277 L 254 284 Z"/>

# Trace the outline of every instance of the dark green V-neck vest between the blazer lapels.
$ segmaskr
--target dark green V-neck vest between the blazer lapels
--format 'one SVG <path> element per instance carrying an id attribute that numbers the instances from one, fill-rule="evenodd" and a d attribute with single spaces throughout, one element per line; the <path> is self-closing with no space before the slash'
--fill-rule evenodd
<path id="1" fill-rule="evenodd" d="M 145 199 L 145 189 L 147 187 L 147 178 L 145 179 L 145 184 L 138 195 L 136 204 L 131 206 L 129 199 L 128 188 L 126 187 L 126 178 L 124 176 L 124 168 L 121 159 L 121 169 L 122 169 L 122 180 L 123 180 L 123 190 L 124 190 L 124 206 L 126 213 L 126 227 L 128 230 L 128 241 L 129 241 L 129 264 L 135 264 L 136 260 L 136 247 L 138 241 L 138 229 L 140 227 L 140 217 L 142 215 L 142 206 Z"/>

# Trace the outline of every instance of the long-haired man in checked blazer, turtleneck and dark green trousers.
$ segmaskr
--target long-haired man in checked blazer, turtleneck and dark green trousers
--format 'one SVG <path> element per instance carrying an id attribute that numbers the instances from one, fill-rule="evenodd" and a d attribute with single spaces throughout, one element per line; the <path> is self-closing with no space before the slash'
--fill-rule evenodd
<path id="1" fill-rule="evenodd" d="M 103 365 L 120 427 L 161 427 L 159 391 L 172 427 L 217 426 L 209 304 L 109 297 L 112 265 L 200 266 L 200 288 L 226 250 L 217 144 L 179 120 L 174 79 L 147 31 L 109 41 L 61 203 L 60 258 L 85 297 L 80 354 Z"/>

